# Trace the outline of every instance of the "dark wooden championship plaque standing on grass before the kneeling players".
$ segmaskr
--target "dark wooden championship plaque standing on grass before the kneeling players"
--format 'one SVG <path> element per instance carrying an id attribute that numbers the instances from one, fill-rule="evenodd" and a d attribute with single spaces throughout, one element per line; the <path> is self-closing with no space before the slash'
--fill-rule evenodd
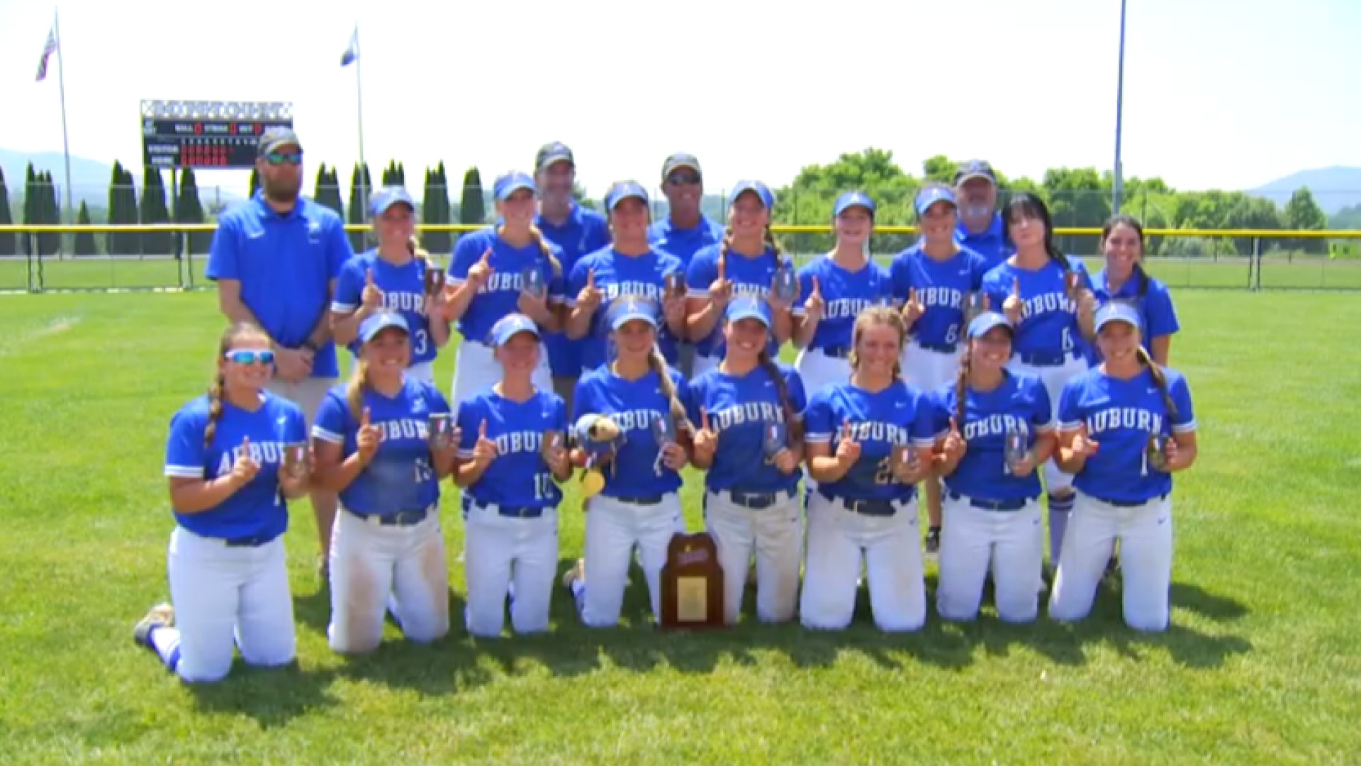
<path id="1" fill-rule="evenodd" d="M 661 628 L 723 627 L 723 567 L 708 533 L 675 534 L 661 567 Z"/>

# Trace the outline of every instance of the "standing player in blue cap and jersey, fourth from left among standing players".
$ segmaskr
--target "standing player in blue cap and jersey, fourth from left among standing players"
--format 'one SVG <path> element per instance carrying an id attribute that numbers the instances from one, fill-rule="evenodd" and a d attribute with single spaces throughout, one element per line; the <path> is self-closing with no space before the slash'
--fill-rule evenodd
<path id="1" fill-rule="evenodd" d="M 724 338 L 719 326 L 728 303 L 757 296 L 770 307 L 769 353 L 778 357 L 789 339 L 788 300 L 777 297 L 776 271 L 793 269 L 770 233 L 774 194 L 761 181 L 739 181 L 728 198 L 728 229 L 723 241 L 701 248 L 686 271 L 689 335 L 695 338 L 694 378 L 719 365 Z"/>

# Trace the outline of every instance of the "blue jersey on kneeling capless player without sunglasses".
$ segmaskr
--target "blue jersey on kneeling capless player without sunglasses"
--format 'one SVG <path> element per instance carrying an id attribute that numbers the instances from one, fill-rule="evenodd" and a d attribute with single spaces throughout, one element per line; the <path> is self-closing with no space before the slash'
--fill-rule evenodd
<path id="1" fill-rule="evenodd" d="M 837 453 L 842 425 L 849 423 L 860 443 L 860 459 L 838 481 L 818 484 L 818 491 L 847 500 L 911 500 L 916 487 L 894 481 L 889 461 L 894 444 L 932 447 L 936 440 L 931 397 L 896 380 L 871 394 L 848 383 L 833 383 L 808 402 L 810 444 L 827 444 Z"/>

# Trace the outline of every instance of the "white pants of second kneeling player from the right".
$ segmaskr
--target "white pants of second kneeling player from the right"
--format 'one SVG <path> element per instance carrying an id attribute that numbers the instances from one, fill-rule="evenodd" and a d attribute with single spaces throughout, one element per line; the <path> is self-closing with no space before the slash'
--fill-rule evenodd
<path id="1" fill-rule="evenodd" d="M 936 587 L 940 616 L 974 619 L 991 568 L 998 617 L 1009 623 L 1034 620 L 1044 562 L 1040 503 L 1030 500 L 1018 510 L 994 511 L 973 506 L 969 497 L 947 495 L 943 510 L 940 585 Z"/>

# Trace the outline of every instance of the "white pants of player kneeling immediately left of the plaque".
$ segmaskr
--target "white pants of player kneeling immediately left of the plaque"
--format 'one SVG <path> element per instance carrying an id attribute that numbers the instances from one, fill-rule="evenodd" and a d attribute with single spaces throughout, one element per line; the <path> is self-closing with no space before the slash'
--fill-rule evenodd
<path id="1" fill-rule="evenodd" d="M 589 627 L 619 623 L 634 547 L 648 581 L 652 616 L 661 622 L 661 567 L 667 563 L 667 545 L 676 533 L 680 515 L 680 496 L 675 492 L 663 495 L 655 506 L 623 503 L 604 495 L 587 500 L 587 583 L 580 602 L 583 623 Z"/>

